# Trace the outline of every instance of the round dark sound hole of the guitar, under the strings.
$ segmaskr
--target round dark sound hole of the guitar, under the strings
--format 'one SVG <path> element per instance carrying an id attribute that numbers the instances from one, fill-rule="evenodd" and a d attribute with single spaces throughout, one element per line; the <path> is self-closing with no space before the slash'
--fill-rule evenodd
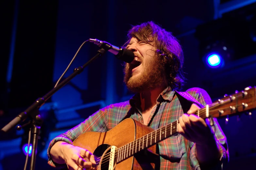
<path id="1" fill-rule="evenodd" d="M 98 164 L 101 160 L 101 157 L 103 156 L 104 152 L 110 147 L 110 145 L 108 144 L 102 144 L 100 146 L 98 146 L 94 152 L 94 158 L 96 163 Z M 100 163 L 100 165 L 98 165 L 98 167 L 100 167 L 100 170 L 108 170 L 108 165 L 109 165 L 109 153 L 110 153 L 111 149 L 108 149 L 103 158 L 102 158 L 102 162 Z"/>

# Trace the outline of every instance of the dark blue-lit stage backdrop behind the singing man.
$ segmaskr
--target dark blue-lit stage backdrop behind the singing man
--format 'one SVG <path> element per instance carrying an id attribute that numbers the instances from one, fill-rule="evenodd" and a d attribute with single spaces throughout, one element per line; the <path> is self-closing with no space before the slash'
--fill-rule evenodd
<path id="1" fill-rule="evenodd" d="M 154 21 L 173 33 L 184 50 L 186 84 L 205 89 L 212 100 L 256 85 L 256 3 L 251 0 L 180 1 L 4 1 L 1 5 L 0 128 L 55 85 L 79 46 L 97 38 L 121 46 L 127 31 Z M 227 47 L 226 51 L 221 50 Z M 85 64 L 99 49 L 83 46 L 71 68 Z M 203 57 L 216 50 L 222 68 L 208 68 Z M 40 109 L 45 120 L 38 144 L 36 169 L 47 165 L 51 139 L 99 108 L 128 100 L 122 62 L 107 53 L 56 92 Z M 252 112 L 252 116 L 255 112 Z M 219 123 L 227 136 L 228 169 L 256 169 L 255 118 L 242 115 Z M 21 145 L 28 127 L 12 129 L 0 140 L 0 170 L 23 169 Z M 209 153 L 210 154 L 210 153 Z"/>

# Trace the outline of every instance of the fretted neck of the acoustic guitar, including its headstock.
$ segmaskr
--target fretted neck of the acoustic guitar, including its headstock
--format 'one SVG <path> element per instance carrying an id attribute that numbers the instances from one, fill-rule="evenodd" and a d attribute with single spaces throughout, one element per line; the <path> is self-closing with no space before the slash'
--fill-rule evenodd
<path id="1" fill-rule="evenodd" d="M 206 105 L 204 108 L 198 110 L 195 115 L 205 119 L 211 117 L 227 117 L 235 115 L 239 112 L 256 108 L 256 88 L 245 89 L 245 91 L 236 92 L 233 95 L 225 96 L 217 100 L 211 105 Z M 210 122 L 212 125 L 212 121 Z M 177 125 L 179 120 L 176 120 L 162 128 L 159 128 L 152 133 L 142 136 L 135 141 L 128 143 L 118 148 L 117 162 L 121 162 L 140 150 L 151 147 L 160 141 L 178 133 Z"/>

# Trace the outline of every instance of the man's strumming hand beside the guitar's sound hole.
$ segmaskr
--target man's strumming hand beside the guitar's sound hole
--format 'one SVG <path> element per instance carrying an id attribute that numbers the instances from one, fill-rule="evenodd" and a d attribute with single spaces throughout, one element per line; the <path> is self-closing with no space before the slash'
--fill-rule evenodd
<path id="1" fill-rule="evenodd" d="M 90 170 L 92 165 L 96 164 L 92 153 L 70 144 L 62 148 L 62 154 L 69 170 L 82 170 L 83 168 Z"/>

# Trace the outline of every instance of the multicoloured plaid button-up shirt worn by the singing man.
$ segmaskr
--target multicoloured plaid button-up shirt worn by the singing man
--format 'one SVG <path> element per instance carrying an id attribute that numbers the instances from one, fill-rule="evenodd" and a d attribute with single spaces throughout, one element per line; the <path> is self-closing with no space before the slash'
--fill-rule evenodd
<path id="1" fill-rule="evenodd" d="M 198 100 L 202 105 L 212 104 L 212 101 L 203 89 L 191 88 L 186 91 Z M 87 120 L 80 123 L 76 127 L 54 138 L 47 150 L 48 163 L 54 167 L 63 167 L 54 163 L 49 155 L 52 146 L 57 141 L 65 141 L 72 144 L 76 137 L 84 132 L 96 131 L 106 132 L 114 128 L 127 115 L 128 117 L 143 123 L 143 117 L 139 107 L 139 95 L 134 95 L 129 101 L 112 104 L 100 109 L 98 112 L 90 116 Z M 148 120 L 148 126 L 158 129 L 171 122 L 174 122 L 182 116 L 183 110 L 175 91 L 171 91 L 170 87 L 165 89 L 157 98 L 157 105 L 152 110 Z M 214 118 L 214 126 L 212 130 L 215 132 L 215 138 L 221 152 L 220 162 L 222 165 L 228 162 L 228 147 L 226 137 L 223 134 L 218 122 Z M 171 136 L 158 143 L 161 170 L 200 170 L 198 160 L 196 158 L 196 148 L 193 142 L 187 140 L 178 134 Z M 210 154 L 210 153 L 209 153 Z"/>

